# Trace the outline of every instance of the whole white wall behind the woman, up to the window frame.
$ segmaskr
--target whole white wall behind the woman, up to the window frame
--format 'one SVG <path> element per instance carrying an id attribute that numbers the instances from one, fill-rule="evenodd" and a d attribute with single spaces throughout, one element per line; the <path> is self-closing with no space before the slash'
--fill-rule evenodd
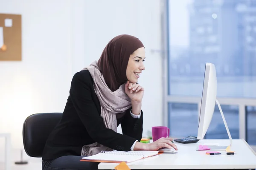
<path id="1" fill-rule="evenodd" d="M 145 88 L 144 134 L 161 125 L 161 57 L 151 53 L 161 45 L 159 1 L 0 0 L 0 4 L 0 13 L 22 14 L 23 59 L 0 62 L 0 133 L 12 134 L 13 148 L 23 148 L 27 116 L 63 111 L 73 74 L 99 59 L 118 34 L 137 36 L 145 45 L 146 69 L 140 78 Z"/>

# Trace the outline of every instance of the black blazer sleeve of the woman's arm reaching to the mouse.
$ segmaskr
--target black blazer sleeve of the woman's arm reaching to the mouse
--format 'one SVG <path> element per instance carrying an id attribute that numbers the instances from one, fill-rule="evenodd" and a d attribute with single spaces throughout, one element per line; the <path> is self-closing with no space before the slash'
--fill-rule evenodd
<path id="1" fill-rule="evenodd" d="M 76 73 L 71 82 L 70 97 L 81 122 L 95 142 L 114 150 L 130 151 L 136 139 L 105 127 L 92 99 L 90 82 L 91 78 L 82 71 Z"/>

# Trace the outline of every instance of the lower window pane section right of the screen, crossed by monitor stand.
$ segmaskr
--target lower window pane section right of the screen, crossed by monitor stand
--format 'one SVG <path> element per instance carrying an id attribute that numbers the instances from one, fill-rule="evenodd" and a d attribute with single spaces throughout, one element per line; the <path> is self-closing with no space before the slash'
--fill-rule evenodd
<path id="1" fill-rule="evenodd" d="M 221 105 L 221 109 L 226 119 L 232 139 L 239 139 L 239 107 L 233 105 Z M 212 121 L 204 138 L 229 139 L 218 105 L 215 105 Z"/>

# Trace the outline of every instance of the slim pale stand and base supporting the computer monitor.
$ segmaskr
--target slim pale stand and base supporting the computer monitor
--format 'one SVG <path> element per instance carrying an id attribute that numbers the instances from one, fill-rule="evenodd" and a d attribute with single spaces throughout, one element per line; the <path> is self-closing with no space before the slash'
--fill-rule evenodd
<path id="1" fill-rule="evenodd" d="M 225 116 L 224 116 L 224 114 L 223 114 L 223 111 L 222 111 L 222 109 L 221 109 L 221 105 L 220 105 L 220 103 L 218 102 L 217 99 L 215 100 L 215 102 L 217 103 L 218 108 L 219 108 L 219 110 L 220 110 L 220 112 L 221 112 L 221 117 L 222 117 L 223 122 L 224 122 L 224 125 L 225 125 L 225 127 L 226 127 L 227 135 L 228 135 L 228 137 L 229 137 L 229 139 L 230 139 L 230 144 L 227 145 L 227 146 L 216 146 L 216 145 L 211 145 L 211 144 L 207 144 L 207 143 L 206 143 L 206 144 L 204 144 L 204 145 L 206 145 L 208 148 L 210 148 L 210 149 L 207 149 L 207 150 L 227 150 L 227 147 L 228 147 L 228 146 L 230 146 L 230 147 L 232 146 L 232 137 L 231 137 L 230 131 L 229 131 L 228 127 L 227 127 L 227 122 L 226 122 Z M 199 147 L 197 147 L 196 150 L 199 150 Z"/>

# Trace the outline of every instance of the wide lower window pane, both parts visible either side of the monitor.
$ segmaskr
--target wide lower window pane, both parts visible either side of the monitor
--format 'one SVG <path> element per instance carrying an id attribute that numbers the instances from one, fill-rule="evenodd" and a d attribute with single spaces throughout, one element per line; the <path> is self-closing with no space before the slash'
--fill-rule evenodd
<path id="1" fill-rule="evenodd" d="M 187 103 L 169 102 L 169 125 L 170 136 L 186 137 L 198 134 L 198 105 Z M 239 139 L 239 108 L 238 106 L 221 105 L 232 139 Z M 215 111 L 209 125 L 205 139 L 229 139 L 227 130 L 218 109 Z"/>

